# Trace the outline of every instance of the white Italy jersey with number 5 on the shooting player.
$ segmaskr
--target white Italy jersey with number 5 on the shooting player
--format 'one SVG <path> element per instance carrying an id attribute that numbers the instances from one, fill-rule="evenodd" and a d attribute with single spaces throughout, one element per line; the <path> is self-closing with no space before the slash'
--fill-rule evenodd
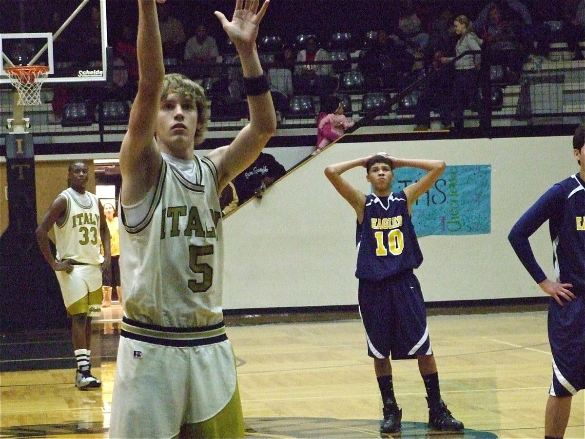
<path id="1" fill-rule="evenodd" d="M 194 157 L 187 180 L 164 157 L 146 217 L 130 227 L 121 207 L 120 271 L 130 319 L 163 327 L 223 321 L 223 242 L 218 179 L 207 157 Z"/>

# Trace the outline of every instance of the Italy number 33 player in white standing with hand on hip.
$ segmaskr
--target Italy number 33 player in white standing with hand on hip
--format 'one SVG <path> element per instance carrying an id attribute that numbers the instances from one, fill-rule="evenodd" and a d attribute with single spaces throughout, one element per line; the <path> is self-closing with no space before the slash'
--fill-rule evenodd
<path id="1" fill-rule="evenodd" d="M 91 318 L 101 315 L 102 272 L 109 269 L 111 259 L 104 210 L 95 194 L 85 190 L 88 172 L 84 162 L 69 165 L 68 188 L 55 198 L 36 229 L 40 251 L 55 271 L 71 317 L 77 361 L 75 386 L 80 390 L 101 386 L 101 380 L 91 374 Z M 49 247 L 51 227 L 56 238 L 56 258 Z"/>

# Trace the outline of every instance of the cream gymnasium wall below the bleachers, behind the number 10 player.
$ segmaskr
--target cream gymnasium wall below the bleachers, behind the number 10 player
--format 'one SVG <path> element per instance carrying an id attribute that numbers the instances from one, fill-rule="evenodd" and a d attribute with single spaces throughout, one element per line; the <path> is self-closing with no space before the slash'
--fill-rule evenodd
<path id="1" fill-rule="evenodd" d="M 337 143 L 288 173 L 262 200 L 251 200 L 225 218 L 224 308 L 357 303 L 355 212 L 323 171 L 328 164 L 379 151 L 448 165 L 491 165 L 491 233 L 419 239 L 425 260 L 416 274 L 426 301 L 542 296 L 507 235 L 553 183 L 578 172 L 571 145 L 569 136 Z M 363 168 L 344 176 L 368 193 Z M 531 243 L 552 277 L 546 225 Z"/>

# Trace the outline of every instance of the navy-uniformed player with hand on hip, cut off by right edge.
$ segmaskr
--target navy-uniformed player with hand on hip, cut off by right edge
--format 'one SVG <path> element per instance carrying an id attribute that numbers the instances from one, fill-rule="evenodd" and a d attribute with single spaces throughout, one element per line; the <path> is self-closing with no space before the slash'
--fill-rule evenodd
<path id="1" fill-rule="evenodd" d="M 573 395 L 585 388 L 585 129 L 573 135 L 579 172 L 553 185 L 512 227 L 508 240 L 534 282 L 551 299 L 548 337 L 553 359 L 545 437 L 565 434 Z M 529 242 L 549 222 L 555 280 L 536 261 Z"/>

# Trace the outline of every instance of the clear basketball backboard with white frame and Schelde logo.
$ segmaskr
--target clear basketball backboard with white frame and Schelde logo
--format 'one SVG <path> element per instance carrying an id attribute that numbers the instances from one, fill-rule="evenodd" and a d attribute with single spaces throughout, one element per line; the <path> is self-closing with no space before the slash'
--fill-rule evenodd
<path id="1" fill-rule="evenodd" d="M 49 66 L 45 83 L 105 81 L 105 0 L 1 0 L 0 84 L 12 65 Z"/>

